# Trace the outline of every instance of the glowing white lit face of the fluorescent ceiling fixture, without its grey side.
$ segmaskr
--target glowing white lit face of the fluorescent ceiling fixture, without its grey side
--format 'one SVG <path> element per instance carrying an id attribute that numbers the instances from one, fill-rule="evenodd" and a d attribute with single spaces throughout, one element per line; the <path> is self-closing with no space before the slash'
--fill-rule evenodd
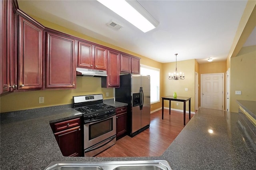
<path id="1" fill-rule="evenodd" d="M 142 14 L 140 14 L 137 10 L 135 10 L 128 2 L 125 0 L 97 0 L 132 25 L 136 26 L 142 32 L 148 32 L 156 28 L 159 24 L 156 22 L 154 25 L 149 22 Z M 145 10 L 143 7 L 141 10 Z"/>

